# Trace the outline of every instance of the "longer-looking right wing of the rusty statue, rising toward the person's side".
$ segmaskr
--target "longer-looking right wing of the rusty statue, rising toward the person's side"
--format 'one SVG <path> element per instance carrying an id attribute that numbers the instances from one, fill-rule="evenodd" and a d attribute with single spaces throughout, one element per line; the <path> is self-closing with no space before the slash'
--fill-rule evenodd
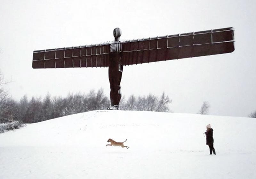
<path id="1" fill-rule="evenodd" d="M 157 62 L 235 50 L 233 27 L 123 42 L 122 65 Z"/>

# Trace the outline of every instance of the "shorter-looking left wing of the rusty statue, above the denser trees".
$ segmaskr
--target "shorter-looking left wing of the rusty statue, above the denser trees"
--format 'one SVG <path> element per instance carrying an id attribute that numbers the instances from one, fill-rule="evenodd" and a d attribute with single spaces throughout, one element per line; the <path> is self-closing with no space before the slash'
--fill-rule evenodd
<path id="1" fill-rule="evenodd" d="M 108 67 L 109 45 L 101 43 L 33 52 L 33 68 Z"/>

